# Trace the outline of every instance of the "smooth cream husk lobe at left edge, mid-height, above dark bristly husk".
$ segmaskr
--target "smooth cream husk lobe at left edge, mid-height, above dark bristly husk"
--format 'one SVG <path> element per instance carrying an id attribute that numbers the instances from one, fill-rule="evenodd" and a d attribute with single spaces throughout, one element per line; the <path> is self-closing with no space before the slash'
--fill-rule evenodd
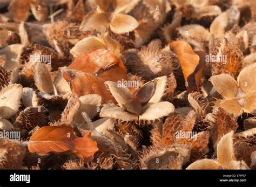
<path id="1" fill-rule="evenodd" d="M 9 117 L 15 115 L 21 105 L 21 96 L 21 85 L 14 84 L 5 86 L 0 92 L 0 116 L 5 119 L 9 119 Z"/>

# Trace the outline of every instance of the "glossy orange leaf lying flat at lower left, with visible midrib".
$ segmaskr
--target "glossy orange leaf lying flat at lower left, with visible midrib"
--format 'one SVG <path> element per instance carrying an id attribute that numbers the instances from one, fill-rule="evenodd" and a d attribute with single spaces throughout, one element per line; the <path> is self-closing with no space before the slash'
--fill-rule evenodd
<path id="1" fill-rule="evenodd" d="M 83 137 L 77 137 L 72 127 L 49 126 L 38 129 L 30 137 L 28 142 L 30 153 L 45 155 L 49 152 L 76 154 L 85 161 L 91 161 L 98 151 L 97 143 L 87 133 Z"/>

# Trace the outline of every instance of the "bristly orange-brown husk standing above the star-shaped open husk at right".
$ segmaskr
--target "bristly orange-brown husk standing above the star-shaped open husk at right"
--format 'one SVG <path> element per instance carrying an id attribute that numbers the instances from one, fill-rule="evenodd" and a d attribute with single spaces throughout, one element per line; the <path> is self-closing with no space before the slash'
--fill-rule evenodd
<path id="1" fill-rule="evenodd" d="M 223 58 L 217 62 L 211 62 L 212 75 L 229 73 L 232 74 L 233 77 L 237 77 L 242 68 L 242 52 L 237 46 L 227 41 L 227 39 L 224 37 L 220 37 L 214 42 L 215 45 L 211 51 L 211 54 L 215 57 L 225 57 L 226 60 Z"/>

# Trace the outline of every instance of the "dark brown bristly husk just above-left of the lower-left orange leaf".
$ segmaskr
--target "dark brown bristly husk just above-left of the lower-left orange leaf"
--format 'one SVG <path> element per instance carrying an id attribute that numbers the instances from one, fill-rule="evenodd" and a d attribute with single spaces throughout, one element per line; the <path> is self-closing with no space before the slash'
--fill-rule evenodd
<path id="1" fill-rule="evenodd" d="M 24 109 L 14 122 L 17 129 L 32 130 L 36 126 L 48 125 L 48 111 L 43 106 L 28 107 Z"/>

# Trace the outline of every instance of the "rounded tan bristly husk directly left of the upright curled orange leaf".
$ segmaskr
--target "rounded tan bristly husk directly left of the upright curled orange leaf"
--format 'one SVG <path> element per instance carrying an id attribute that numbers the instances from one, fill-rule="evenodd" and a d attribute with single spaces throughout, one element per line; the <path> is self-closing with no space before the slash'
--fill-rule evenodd
<path id="1" fill-rule="evenodd" d="M 137 74 L 146 81 L 172 73 L 171 54 L 165 53 L 159 39 L 153 40 L 140 51 L 126 51 L 127 71 Z"/>

